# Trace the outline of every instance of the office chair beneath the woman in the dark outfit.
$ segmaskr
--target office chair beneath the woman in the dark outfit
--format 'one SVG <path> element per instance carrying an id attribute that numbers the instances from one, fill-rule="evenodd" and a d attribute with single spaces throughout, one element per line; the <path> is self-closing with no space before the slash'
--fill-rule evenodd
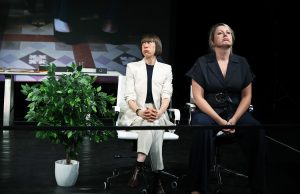
<path id="1" fill-rule="evenodd" d="M 186 106 L 187 106 L 188 112 L 189 112 L 188 124 L 191 125 L 192 113 L 196 110 L 196 105 L 195 105 L 194 98 L 193 98 L 192 86 L 190 87 L 190 102 L 186 103 Z M 254 111 L 253 105 L 249 106 L 248 111 L 249 112 Z M 214 172 L 214 174 L 217 178 L 217 184 L 218 184 L 216 193 L 220 193 L 221 189 L 222 189 L 222 185 L 223 185 L 222 173 L 227 173 L 227 174 L 238 176 L 238 177 L 248 178 L 248 176 L 243 173 L 226 168 L 221 165 L 220 148 L 222 145 L 230 144 L 230 143 L 235 143 L 234 135 L 228 135 L 228 134 L 224 133 L 223 131 L 219 131 L 216 134 L 215 150 L 214 150 L 213 165 L 212 165 L 212 171 Z"/>

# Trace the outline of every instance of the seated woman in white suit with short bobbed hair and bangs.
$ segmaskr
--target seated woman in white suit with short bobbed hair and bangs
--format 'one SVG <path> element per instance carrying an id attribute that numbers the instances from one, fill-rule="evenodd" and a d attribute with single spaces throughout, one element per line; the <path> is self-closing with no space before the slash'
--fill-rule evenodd
<path id="1" fill-rule="evenodd" d="M 166 126 L 169 121 L 166 110 L 173 93 L 172 68 L 157 61 L 162 53 L 161 40 L 156 35 L 144 35 L 141 40 L 144 58 L 127 64 L 125 100 L 128 110 L 119 120 L 126 126 Z M 137 141 L 137 161 L 130 187 L 138 186 L 139 173 L 143 170 L 146 157 L 150 155 L 154 172 L 154 192 L 163 194 L 160 171 L 164 169 L 162 145 L 164 130 L 139 130 Z"/>

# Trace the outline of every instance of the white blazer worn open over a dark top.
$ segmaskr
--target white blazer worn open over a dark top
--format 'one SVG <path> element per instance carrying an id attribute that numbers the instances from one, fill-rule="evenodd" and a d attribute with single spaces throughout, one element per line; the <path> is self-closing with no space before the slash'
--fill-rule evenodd
<path id="1" fill-rule="evenodd" d="M 152 74 L 152 96 L 156 109 L 160 108 L 163 98 L 171 99 L 173 93 L 172 80 L 172 67 L 168 64 L 156 61 Z M 147 69 L 144 59 L 127 64 L 124 92 L 126 106 L 123 107 L 125 110 L 121 110 L 123 114 L 120 114 L 118 125 L 130 126 L 132 122 L 138 118 L 136 113 L 129 108 L 129 100 L 134 100 L 141 109 L 145 108 L 147 81 Z M 166 124 L 172 125 L 167 113 L 161 117 L 165 120 Z"/>

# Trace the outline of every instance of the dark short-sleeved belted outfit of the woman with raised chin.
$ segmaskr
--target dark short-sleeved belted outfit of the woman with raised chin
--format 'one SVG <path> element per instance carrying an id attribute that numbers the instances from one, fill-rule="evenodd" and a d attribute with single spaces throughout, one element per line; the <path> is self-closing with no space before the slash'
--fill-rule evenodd
<path id="1" fill-rule="evenodd" d="M 225 78 L 214 53 L 198 58 L 186 75 L 203 87 L 204 98 L 226 120 L 236 110 L 243 88 L 254 79 L 247 60 L 235 54 L 230 56 Z M 198 109 L 192 115 L 192 125 L 213 126 L 218 124 Z M 236 125 L 260 126 L 260 122 L 246 112 Z M 207 192 L 216 131 L 201 128 L 194 130 L 193 133 L 189 164 L 191 191 L 200 191 L 203 194 Z M 236 129 L 235 136 L 248 160 L 248 175 L 252 192 L 264 193 L 265 131 L 261 127 L 255 129 L 241 127 Z"/>

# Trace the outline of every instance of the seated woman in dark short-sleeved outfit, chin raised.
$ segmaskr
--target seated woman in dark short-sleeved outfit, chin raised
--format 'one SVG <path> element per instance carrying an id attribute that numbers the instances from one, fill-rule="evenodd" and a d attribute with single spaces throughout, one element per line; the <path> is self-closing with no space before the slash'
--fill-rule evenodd
<path id="1" fill-rule="evenodd" d="M 248 112 L 254 75 L 247 60 L 233 54 L 234 39 L 234 32 L 227 24 L 214 25 L 209 36 L 212 52 L 199 57 L 186 74 L 192 80 L 198 108 L 192 115 L 192 125 L 260 126 Z M 245 153 L 252 194 L 265 193 L 265 131 L 261 127 L 222 130 L 234 134 Z M 210 128 L 194 130 L 190 153 L 191 194 L 207 193 L 216 133 Z"/>

